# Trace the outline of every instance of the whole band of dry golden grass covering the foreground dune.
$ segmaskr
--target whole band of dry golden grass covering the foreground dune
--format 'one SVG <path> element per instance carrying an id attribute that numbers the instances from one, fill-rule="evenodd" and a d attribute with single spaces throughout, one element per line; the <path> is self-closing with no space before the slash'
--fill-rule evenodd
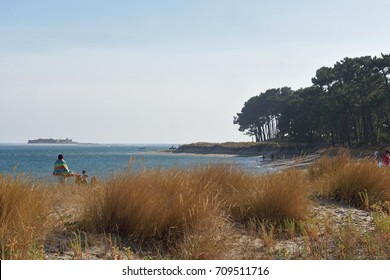
<path id="1" fill-rule="evenodd" d="M 267 175 L 229 165 L 129 168 L 94 186 L 50 187 L 1 176 L 1 258 L 44 258 L 43 245 L 56 243 L 53 238 L 59 232 L 66 239 L 64 250 L 73 251 L 73 258 L 89 258 L 87 251 L 105 236 L 110 256 L 102 258 L 112 259 L 287 258 L 287 251 L 275 249 L 287 240 L 303 242 L 289 255 L 295 259 L 386 259 L 389 172 L 343 154 L 323 157 L 306 171 Z M 308 219 L 313 192 L 366 210 L 375 208 L 377 230 L 313 222 Z M 240 235 L 260 238 L 263 247 L 254 250 L 248 245 L 253 250 L 245 255 L 237 249 Z"/>

